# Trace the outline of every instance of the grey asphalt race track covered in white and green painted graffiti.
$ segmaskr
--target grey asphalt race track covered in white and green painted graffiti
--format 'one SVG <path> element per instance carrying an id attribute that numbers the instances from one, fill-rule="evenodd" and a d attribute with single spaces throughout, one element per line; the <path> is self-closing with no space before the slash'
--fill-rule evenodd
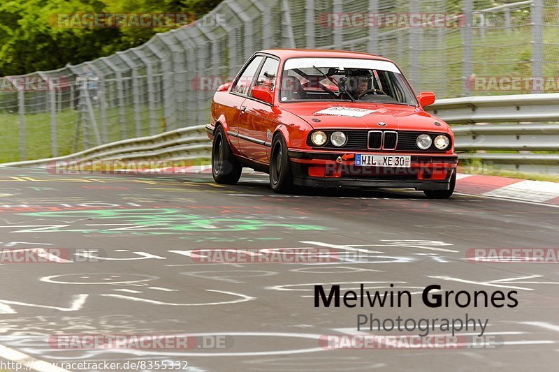
<path id="1" fill-rule="evenodd" d="M 55 175 L 16 168 L 0 170 L 0 198 L 3 249 L 89 249 L 101 257 L 3 262 L 5 360 L 17 351 L 47 362 L 186 361 L 189 371 L 557 368 L 557 264 L 469 262 L 465 255 L 469 248 L 557 248 L 554 207 L 470 195 L 427 200 L 402 190 L 275 195 L 257 174 L 219 186 L 210 174 Z M 201 263 L 184 252 L 205 248 L 361 249 L 368 260 Z M 344 290 L 359 283 L 419 292 L 430 284 L 517 290 L 518 306 L 428 308 L 412 295 L 411 308 L 315 308 L 314 283 L 340 283 Z M 486 333 L 500 343 L 458 350 L 319 346 L 321 335 L 355 334 L 358 313 L 381 319 L 468 313 L 488 318 Z M 207 334 L 227 336 L 228 343 L 64 350 L 48 343 L 57 334 Z"/>

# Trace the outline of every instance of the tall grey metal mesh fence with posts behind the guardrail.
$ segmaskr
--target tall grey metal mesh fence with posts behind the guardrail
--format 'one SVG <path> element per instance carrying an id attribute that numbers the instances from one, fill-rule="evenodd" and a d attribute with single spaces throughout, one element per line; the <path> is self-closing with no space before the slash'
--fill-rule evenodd
<path id="1" fill-rule="evenodd" d="M 429 21 L 435 13 L 444 15 L 444 27 Z M 427 17 L 412 24 L 417 15 Z M 4 78 L 0 162 L 205 124 L 215 88 L 256 50 L 271 47 L 381 54 L 416 91 L 439 98 L 558 92 L 558 19 L 557 0 L 224 0 L 203 22 L 140 47 Z M 495 85 L 500 77 L 505 84 Z"/>

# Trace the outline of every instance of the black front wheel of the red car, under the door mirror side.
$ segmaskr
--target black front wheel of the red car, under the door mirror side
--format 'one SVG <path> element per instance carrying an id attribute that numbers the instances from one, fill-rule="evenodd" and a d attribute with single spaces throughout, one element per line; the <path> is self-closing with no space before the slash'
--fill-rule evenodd
<path id="1" fill-rule="evenodd" d="M 287 145 L 279 133 L 274 136 L 270 151 L 270 186 L 275 193 L 289 193 L 293 189 L 293 172 Z"/>

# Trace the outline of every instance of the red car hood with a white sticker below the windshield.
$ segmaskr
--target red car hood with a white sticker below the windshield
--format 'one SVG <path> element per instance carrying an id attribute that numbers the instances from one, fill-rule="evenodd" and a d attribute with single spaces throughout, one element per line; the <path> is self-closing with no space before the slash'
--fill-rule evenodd
<path id="1" fill-rule="evenodd" d="M 314 129 L 449 131 L 447 124 L 437 117 L 421 108 L 407 105 L 321 102 L 291 103 L 282 108 L 307 121 Z M 440 126 L 435 125 L 435 122 L 440 123 Z"/>

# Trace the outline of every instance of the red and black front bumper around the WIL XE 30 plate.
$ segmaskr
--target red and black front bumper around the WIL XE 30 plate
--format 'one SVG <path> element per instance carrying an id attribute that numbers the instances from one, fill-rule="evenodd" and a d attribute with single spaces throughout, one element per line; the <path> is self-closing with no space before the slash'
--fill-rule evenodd
<path id="1" fill-rule="evenodd" d="M 355 153 L 290 150 L 293 183 L 320 188 L 353 186 L 449 190 L 452 173 L 458 164 L 456 154 L 367 153 L 409 155 L 412 156 L 411 167 L 363 167 L 355 165 Z"/>

